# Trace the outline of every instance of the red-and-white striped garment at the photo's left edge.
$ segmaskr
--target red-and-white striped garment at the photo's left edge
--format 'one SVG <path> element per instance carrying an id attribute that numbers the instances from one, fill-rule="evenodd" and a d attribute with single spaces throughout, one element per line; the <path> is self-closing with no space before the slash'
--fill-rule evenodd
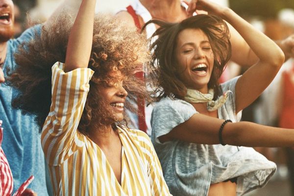
<path id="1" fill-rule="evenodd" d="M 0 196 L 10 196 L 13 190 L 13 177 L 6 159 L 6 156 L 1 148 L 3 140 L 3 128 L 0 121 Z"/>

